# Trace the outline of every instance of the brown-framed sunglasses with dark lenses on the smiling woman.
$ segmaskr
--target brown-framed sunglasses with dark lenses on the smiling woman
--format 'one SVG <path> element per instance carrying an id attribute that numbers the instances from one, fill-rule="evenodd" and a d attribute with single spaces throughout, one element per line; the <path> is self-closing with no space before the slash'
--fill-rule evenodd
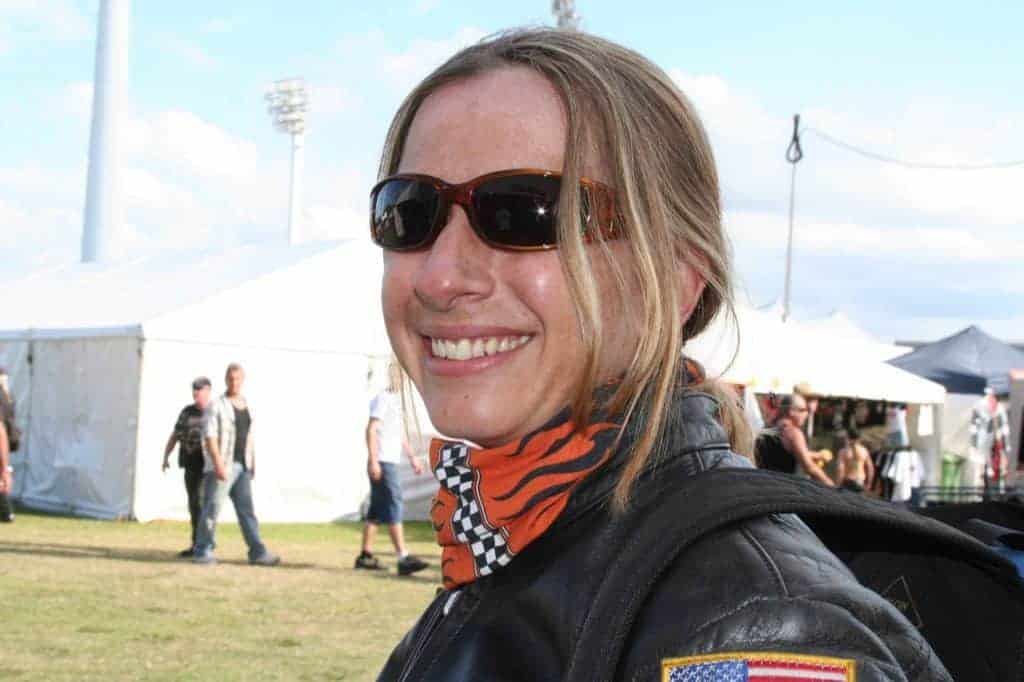
<path id="1" fill-rule="evenodd" d="M 386 177 L 370 191 L 370 235 L 391 251 L 429 248 L 461 206 L 469 224 L 496 249 L 535 251 L 558 246 L 561 173 L 520 169 L 487 173 L 462 184 L 418 174 Z M 584 241 L 597 235 L 617 239 L 614 194 L 607 185 L 580 179 Z"/>

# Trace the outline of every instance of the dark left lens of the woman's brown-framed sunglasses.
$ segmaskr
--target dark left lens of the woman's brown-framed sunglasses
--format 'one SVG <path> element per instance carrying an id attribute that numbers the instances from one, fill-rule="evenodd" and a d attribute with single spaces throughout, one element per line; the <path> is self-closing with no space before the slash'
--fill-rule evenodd
<path id="1" fill-rule="evenodd" d="M 396 251 L 423 247 L 439 209 L 440 195 L 433 185 L 410 178 L 387 180 L 371 207 L 374 241 Z"/>

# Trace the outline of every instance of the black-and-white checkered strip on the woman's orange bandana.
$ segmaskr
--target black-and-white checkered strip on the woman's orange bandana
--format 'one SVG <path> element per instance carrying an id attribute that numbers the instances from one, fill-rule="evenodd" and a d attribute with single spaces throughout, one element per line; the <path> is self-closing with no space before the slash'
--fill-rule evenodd
<path id="1" fill-rule="evenodd" d="M 497 568 L 508 565 L 512 550 L 505 540 L 504 529 L 487 522 L 473 489 L 473 470 L 467 464 L 469 447 L 464 443 L 450 443 L 440 451 L 434 477 L 441 487 L 459 501 L 452 515 L 452 530 L 456 540 L 469 547 L 477 576 L 489 576 Z"/>

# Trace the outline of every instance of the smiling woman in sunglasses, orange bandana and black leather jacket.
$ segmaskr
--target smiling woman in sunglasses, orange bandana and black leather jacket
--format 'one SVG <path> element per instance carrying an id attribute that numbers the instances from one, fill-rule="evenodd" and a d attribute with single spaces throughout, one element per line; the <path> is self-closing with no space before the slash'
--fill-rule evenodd
<path id="1" fill-rule="evenodd" d="M 752 466 L 734 396 L 682 353 L 732 306 L 700 122 L 635 52 L 502 34 L 409 95 L 371 208 L 392 347 L 456 438 L 431 444 L 444 590 L 380 679 L 574 679 L 599 653 L 577 645 L 600 627 L 604 570 L 647 549 L 631 534 L 692 513 L 665 503 L 684 482 Z M 721 666 L 947 679 L 895 609 L 781 516 L 665 566 L 617 666 L 608 679 L 725 679 Z"/>

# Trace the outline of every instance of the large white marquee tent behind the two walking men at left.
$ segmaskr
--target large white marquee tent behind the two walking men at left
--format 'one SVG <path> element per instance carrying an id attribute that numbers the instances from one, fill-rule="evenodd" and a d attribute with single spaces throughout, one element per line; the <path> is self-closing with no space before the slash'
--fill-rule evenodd
<path id="1" fill-rule="evenodd" d="M 74 265 L 4 285 L 0 365 L 25 444 L 14 497 L 100 518 L 186 518 L 163 449 L 189 383 L 241 363 L 263 520 L 357 512 L 368 373 L 390 354 L 380 252 L 348 242 Z M 173 461 L 173 460 L 172 460 Z"/>

